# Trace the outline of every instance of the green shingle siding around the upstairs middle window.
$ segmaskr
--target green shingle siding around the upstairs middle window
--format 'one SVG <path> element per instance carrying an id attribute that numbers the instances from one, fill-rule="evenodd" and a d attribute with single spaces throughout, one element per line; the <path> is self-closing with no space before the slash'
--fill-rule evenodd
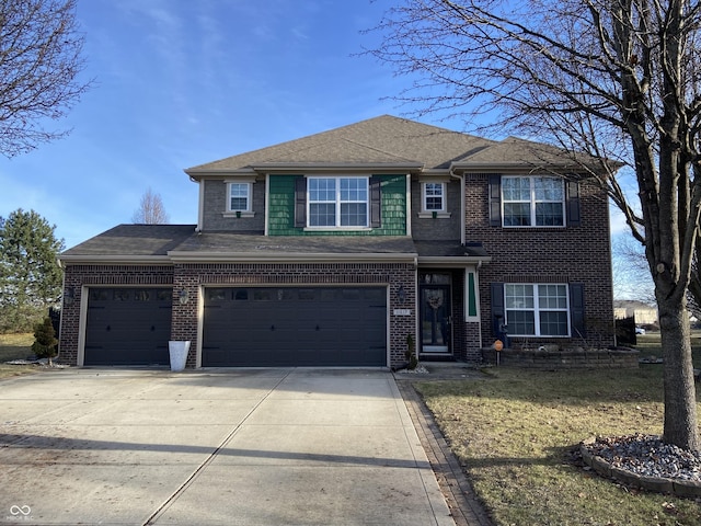
<path id="1" fill-rule="evenodd" d="M 295 228 L 295 178 L 271 175 L 267 225 L 269 236 L 406 236 L 406 176 L 377 175 L 382 187 L 382 226 L 371 230 L 304 231 Z"/>

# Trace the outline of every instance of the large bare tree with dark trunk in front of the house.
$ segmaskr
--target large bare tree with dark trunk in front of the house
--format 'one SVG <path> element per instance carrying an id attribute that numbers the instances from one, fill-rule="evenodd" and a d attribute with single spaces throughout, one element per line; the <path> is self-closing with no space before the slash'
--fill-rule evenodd
<path id="1" fill-rule="evenodd" d="M 370 53 L 418 113 L 474 119 L 582 161 L 645 248 L 664 354 L 664 439 L 699 450 L 687 291 L 699 237 L 701 38 L 691 0 L 404 0 Z M 494 112 L 494 113 L 496 113 Z M 588 157 L 588 156 L 587 156 Z M 620 179 L 634 174 L 629 196 Z M 637 213 L 636 210 L 640 210 Z"/>

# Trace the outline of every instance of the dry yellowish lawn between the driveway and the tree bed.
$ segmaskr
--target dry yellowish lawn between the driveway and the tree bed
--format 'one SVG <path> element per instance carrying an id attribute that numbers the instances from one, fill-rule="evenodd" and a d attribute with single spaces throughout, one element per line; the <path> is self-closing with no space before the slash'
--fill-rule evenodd
<path id="1" fill-rule="evenodd" d="M 416 385 L 495 524 L 701 525 L 701 504 L 631 490 L 573 459 L 590 435 L 662 432 L 662 366 L 490 369 Z"/>

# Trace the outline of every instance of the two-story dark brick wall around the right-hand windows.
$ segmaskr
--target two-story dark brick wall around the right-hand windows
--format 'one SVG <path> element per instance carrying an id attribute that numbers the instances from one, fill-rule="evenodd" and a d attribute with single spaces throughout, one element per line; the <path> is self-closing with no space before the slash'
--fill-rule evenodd
<path id="1" fill-rule="evenodd" d="M 613 285 L 606 194 L 579 185 L 581 226 L 564 228 L 503 228 L 489 226 L 487 175 L 469 175 L 466 187 L 466 236 L 483 243 L 492 262 L 480 270 L 482 334 L 487 345 L 496 339 L 491 319 L 493 282 L 583 283 L 586 340 L 556 339 L 561 345 L 613 345 Z M 552 343 L 552 339 L 512 339 L 512 346 Z"/>

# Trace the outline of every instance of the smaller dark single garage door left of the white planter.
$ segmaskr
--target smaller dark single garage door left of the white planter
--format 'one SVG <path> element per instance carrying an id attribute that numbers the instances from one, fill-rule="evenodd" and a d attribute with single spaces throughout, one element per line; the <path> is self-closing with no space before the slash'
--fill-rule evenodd
<path id="1" fill-rule="evenodd" d="M 169 365 L 171 288 L 91 288 L 85 365 Z"/>

